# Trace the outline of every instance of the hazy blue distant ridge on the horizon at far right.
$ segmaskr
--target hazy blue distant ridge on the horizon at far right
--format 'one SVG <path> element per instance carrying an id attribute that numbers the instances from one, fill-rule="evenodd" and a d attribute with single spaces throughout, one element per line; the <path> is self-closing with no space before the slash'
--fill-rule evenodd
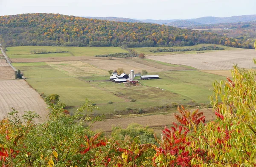
<path id="1" fill-rule="evenodd" d="M 189 19 L 202 24 L 217 24 L 217 23 L 234 23 L 234 22 L 247 22 L 256 20 L 256 14 L 232 16 L 232 17 L 200 17 L 197 19 Z"/>

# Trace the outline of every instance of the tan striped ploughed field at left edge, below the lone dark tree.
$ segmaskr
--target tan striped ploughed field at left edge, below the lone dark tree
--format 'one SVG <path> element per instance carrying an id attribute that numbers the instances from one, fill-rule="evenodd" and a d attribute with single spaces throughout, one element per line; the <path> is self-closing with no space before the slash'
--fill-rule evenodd
<path id="1" fill-rule="evenodd" d="M 20 114 L 24 111 L 35 111 L 41 116 L 40 119 L 35 119 L 36 122 L 47 119 L 47 105 L 24 80 L 0 81 L 0 120 L 7 117 L 12 107 Z"/>

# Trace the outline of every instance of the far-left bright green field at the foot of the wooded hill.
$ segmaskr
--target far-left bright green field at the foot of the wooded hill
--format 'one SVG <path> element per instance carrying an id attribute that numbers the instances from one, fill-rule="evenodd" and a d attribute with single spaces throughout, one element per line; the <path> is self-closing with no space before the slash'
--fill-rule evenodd
<path id="1" fill-rule="evenodd" d="M 95 56 L 128 52 L 119 47 L 64 47 L 64 46 L 15 46 L 7 47 L 7 55 L 10 58 L 46 58 L 65 56 Z M 33 50 L 45 49 L 48 52 L 57 50 L 68 51 L 67 53 L 31 54 Z"/>

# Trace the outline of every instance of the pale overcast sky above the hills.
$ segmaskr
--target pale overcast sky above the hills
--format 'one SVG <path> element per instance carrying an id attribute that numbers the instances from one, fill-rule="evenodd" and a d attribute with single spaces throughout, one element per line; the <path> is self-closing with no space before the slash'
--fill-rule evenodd
<path id="1" fill-rule="evenodd" d="M 0 15 L 59 13 L 137 19 L 256 14 L 256 0 L 0 0 Z"/>

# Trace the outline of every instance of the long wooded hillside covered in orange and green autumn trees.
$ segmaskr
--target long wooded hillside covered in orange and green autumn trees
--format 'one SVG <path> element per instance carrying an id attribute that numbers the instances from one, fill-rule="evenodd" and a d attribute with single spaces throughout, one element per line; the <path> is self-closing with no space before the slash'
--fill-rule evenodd
<path id="1" fill-rule="evenodd" d="M 0 16 L 0 41 L 5 46 L 192 46 L 212 43 L 252 48 L 242 39 L 213 32 L 151 23 L 122 23 L 61 14 Z"/>

